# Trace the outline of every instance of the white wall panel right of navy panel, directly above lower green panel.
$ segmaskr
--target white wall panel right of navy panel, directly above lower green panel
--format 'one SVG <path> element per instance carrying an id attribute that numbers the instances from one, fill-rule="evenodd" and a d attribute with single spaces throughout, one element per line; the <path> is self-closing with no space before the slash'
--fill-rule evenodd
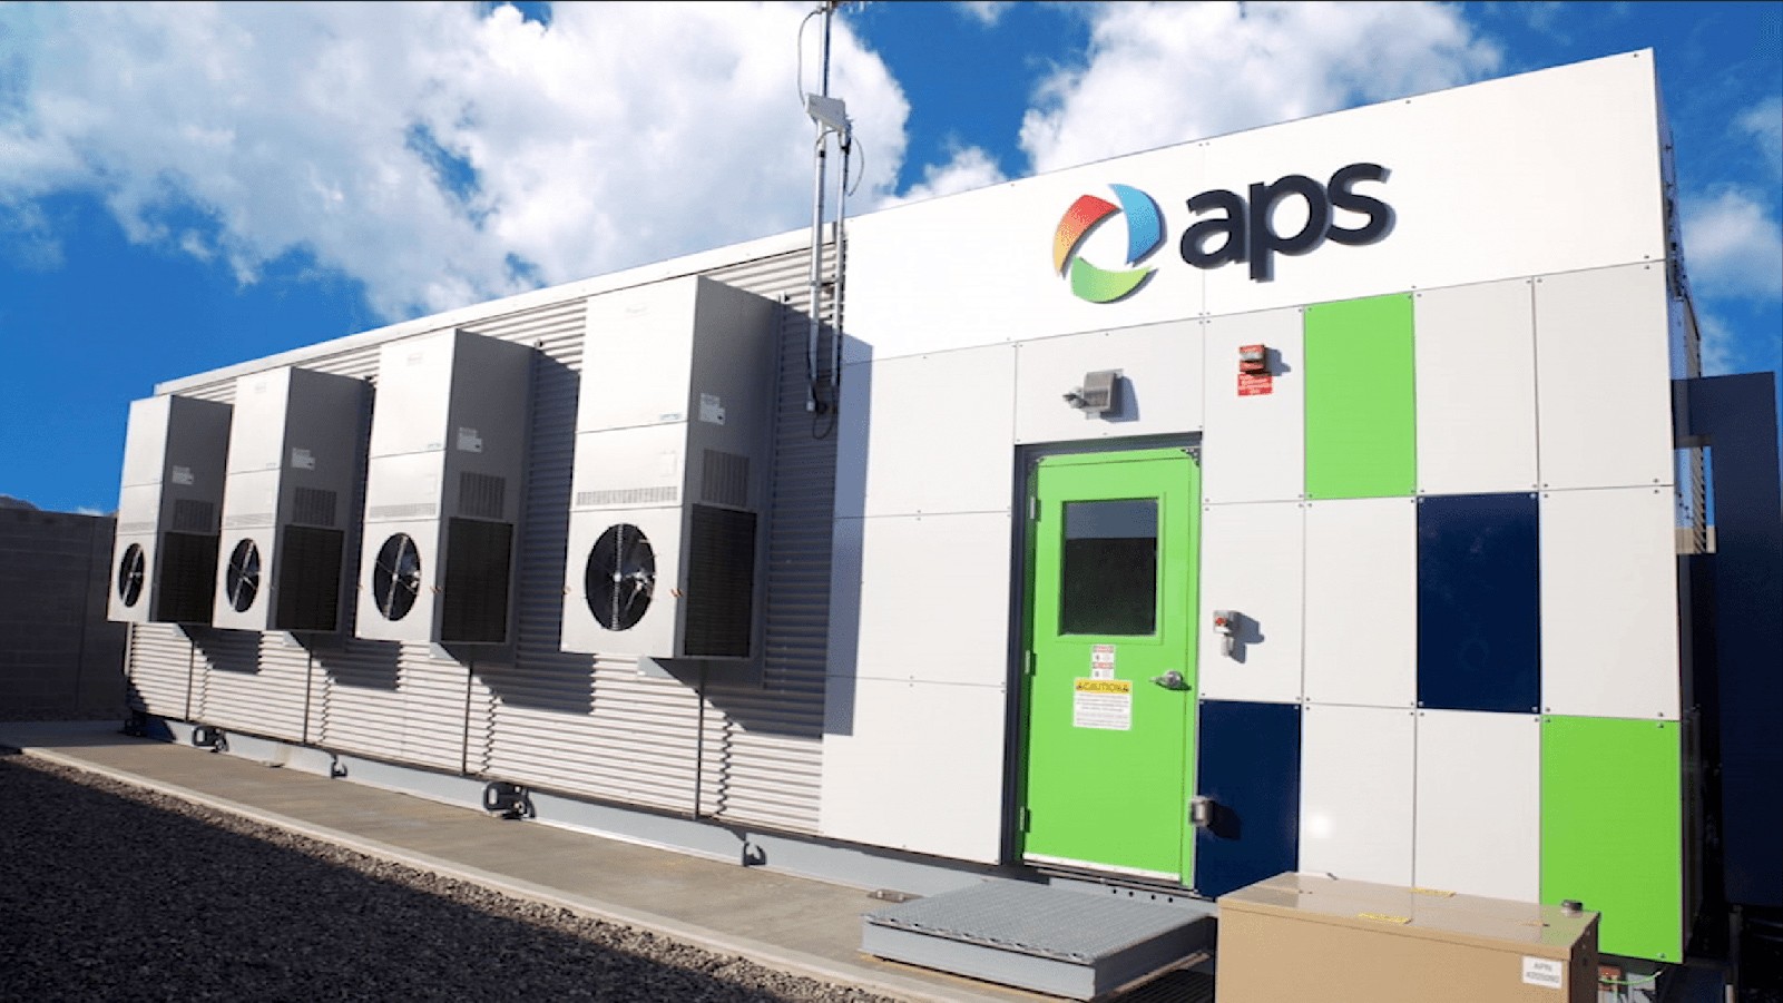
<path id="1" fill-rule="evenodd" d="M 1542 492 L 1542 709 L 1678 718 L 1671 488 Z"/>

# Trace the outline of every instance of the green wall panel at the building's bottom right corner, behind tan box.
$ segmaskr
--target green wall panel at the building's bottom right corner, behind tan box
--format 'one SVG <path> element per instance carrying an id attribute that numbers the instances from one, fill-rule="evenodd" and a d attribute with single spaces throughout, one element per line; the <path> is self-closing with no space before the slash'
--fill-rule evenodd
<path id="1" fill-rule="evenodd" d="M 1542 718 L 1542 901 L 1603 912 L 1601 950 L 1683 960 L 1676 722 Z"/>

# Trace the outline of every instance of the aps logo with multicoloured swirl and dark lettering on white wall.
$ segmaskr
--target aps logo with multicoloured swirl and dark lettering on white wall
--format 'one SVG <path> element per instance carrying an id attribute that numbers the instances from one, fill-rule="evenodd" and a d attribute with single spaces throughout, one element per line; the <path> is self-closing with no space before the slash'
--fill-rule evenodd
<path id="1" fill-rule="evenodd" d="M 1273 278 L 1275 255 L 1307 255 L 1325 241 L 1335 244 L 1373 244 L 1393 230 L 1393 207 L 1355 191 L 1359 182 L 1385 182 L 1380 164 L 1339 167 L 1328 182 L 1305 175 L 1287 175 L 1273 183 L 1250 185 L 1248 196 L 1212 189 L 1187 200 L 1196 219 L 1182 233 L 1182 260 L 1202 271 L 1227 262 L 1250 265 L 1252 281 Z M 1093 194 L 1077 196 L 1064 210 L 1052 235 L 1052 267 L 1068 278 L 1072 292 L 1089 303 L 1114 303 L 1132 296 L 1157 269 L 1100 269 L 1077 255 L 1091 230 L 1116 212 L 1127 217 L 1127 264 L 1138 265 L 1164 242 L 1164 223 L 1152 196 L 1130 185 L 1109 185 L 1120 205 Z M 1305 201 L 1305 223 L 1294 233 L 1275 230 L 1275 208 L 1284 201 Z M 1344 226 L 1335 210 L 1362 217 L 1360 226 Z"/>

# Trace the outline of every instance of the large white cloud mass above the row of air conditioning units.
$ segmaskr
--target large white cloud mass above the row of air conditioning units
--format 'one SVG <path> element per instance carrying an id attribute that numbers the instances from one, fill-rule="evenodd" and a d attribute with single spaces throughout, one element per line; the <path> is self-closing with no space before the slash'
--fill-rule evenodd
<path id="1" fill-rule="evenodd" d="M 0 5 L 0 224 L 89 191 L 136 241 L 244 281 L 303 251 L 390 317 L 793 230 L 808 9 Z M 840 20 L 831 64 L 872 198 L 908 103 Z"/>

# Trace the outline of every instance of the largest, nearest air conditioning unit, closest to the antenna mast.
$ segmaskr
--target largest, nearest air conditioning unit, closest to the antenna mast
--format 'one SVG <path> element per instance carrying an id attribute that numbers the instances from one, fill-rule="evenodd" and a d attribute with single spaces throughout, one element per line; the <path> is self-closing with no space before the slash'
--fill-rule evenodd
<path id="1" fill-rule="evenodd" d="M 706 278 L 588 301 L 563 650 L 758 654 L 776 310 Z"/>

